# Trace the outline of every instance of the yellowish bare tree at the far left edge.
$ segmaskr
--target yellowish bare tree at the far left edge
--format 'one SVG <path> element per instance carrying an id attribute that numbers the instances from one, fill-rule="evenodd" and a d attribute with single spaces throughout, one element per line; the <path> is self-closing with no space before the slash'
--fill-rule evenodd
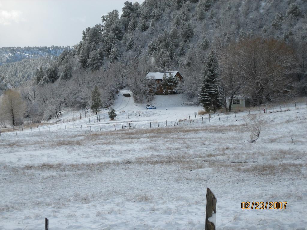
<path id="1" fill-rule="evenodd" d="M 25 103 L 16 90 L 7 90 L 1 98 L 1 115 L 4 120 L 10 120 L 12 125 L 21 124 L 25 112 Z"/>

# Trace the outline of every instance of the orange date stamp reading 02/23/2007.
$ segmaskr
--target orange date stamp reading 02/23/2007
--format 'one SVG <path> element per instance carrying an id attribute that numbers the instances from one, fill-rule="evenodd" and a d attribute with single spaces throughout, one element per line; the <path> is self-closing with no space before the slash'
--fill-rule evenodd
<path id="1" fill-rule="evenodd" d="M 282 210 L 286 209 L 287 201 L 243 201 L 241 202 L 241 209 L 244 210 L 263 210 L 263 209 L 270 209 L 270 210 Z"/>

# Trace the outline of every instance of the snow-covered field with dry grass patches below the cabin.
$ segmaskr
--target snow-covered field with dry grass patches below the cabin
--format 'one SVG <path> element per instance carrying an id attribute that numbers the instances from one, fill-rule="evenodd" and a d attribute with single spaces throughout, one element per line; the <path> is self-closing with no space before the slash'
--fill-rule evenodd
<path id="1" fill-rule="evenodd" d="M 260 138 L 249 143 L 248 111 L 202 122 L 194 117 L 201 107 L 183 101 L 158 96 L 148 111 L 119 96 L 117 121 L 2 133 L 0 229 L 43 229 L 44 217 L 50 230 L 204 229 L 207 187 L 217 198 L 217 229 L 307 229 L 306 105 L 262 114 Z M 129 122 L 138 128 L 121 129 Z M 242 201 L 287 205 L 242 210 Z"/>

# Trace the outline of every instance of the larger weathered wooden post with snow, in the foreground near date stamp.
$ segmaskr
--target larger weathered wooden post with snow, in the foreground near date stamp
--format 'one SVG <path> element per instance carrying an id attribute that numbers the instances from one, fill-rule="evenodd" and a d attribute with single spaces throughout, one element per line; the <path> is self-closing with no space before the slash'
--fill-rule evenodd
<path id="1" fill-rule="evenodd" d="M 206 224 L 205 230 L 215 230 L 216 221 L 216 198 L 209 188 L 207 188 Z"/>

